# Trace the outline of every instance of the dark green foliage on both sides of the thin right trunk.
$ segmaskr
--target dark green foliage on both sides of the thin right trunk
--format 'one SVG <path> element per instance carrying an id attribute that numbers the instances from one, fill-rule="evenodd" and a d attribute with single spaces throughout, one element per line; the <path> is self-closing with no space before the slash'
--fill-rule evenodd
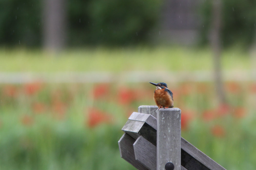
<path id="1" fill-rule="evenodd" d="M 212 4 L 211 1 L 202 3 L 201 43 L 207 44 L 211 30 Z M 250 47 L 256 33 L 256 1 L 254 0 L 223 0 L 222 1 L 222 28 L 220 30 L 220 42 L 223 47 L 230 45 L 243 45 Z"/>

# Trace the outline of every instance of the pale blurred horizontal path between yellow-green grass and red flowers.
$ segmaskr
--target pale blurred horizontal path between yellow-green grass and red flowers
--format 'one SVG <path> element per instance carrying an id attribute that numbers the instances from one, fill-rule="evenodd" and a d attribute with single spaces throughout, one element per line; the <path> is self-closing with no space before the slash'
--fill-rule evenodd
<path id="1" fill-rule="evenodd" d="M 150 82 L 175 80 L 175 82 L 213 81 L 212 71 L 129 71 L 129 72 L 0 72 L 0 83 L 111 83 Z M 255 81 L 256 73 L 251 70 L 223 71 L 225 81 Z"/>

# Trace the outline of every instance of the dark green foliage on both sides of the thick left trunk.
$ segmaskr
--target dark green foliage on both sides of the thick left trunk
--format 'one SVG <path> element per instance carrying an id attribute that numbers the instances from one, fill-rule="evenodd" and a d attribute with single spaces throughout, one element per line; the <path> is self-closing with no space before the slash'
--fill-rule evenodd
<path id="1" fill-rule="evenodd" d="M 131 45 L 147 40 L 162 1 L 67 1 L 68 45 Z M 0 43 L 42 45 L 43 1 L 3 0 Z M 15 41 L 16 40 L 16 41 Z"/>

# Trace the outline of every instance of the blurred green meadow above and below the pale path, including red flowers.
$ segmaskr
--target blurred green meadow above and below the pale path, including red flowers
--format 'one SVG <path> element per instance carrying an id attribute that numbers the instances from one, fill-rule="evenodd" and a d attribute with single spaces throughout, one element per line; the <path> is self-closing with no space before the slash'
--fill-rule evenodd
<path id="1" fill-rule="evenodd" d="M 209 49 L 137 47 L 0 50 L 0 72 L 205 71 Z M 248 54 L 223 52 L 223 70 L 250 70 Z M 152 80 L 152 82 L 157 80 Z M 182 110 L 182 136 L 226 169 L 256 167 L 256 82 L 225 81 L 218 104 L 212 82 L 166 82 Z M 154 105 L 155 87 L 132 83 L 0 84 L 0 169 L 135 169 L 118 140 L 129 115 Z"/>

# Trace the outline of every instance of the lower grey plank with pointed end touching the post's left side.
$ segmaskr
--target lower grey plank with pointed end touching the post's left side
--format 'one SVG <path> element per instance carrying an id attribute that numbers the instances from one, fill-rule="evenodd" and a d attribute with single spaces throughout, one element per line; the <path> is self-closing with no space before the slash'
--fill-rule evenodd
<path id="1" fill-rule="evenodd" d="M 135 159 L 151 170 L 156 170 L 156 146 L 142 136 L 133 143 Z"/>

